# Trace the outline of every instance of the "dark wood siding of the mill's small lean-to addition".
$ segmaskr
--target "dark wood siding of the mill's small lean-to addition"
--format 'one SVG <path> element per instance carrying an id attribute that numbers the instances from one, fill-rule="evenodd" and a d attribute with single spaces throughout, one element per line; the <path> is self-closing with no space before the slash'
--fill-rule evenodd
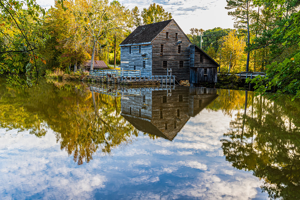
<path id="1" fill-rule="evenodd" d="M 200 61 L 203 56 L 203 62 Z M 218 65 L 195 46 L 190 46 L 190 83 L 215 83 L 217 82 Z M 204 74 L 207 68 L 207 74 Z"/>

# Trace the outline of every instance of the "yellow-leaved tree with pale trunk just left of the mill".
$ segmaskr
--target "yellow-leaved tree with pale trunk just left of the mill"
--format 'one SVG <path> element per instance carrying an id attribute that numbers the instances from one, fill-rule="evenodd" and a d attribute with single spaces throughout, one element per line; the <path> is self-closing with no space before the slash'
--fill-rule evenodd
<path id="1" fill-rule="evenodd" d="M 124 6 L 116 9 L 119 3 L 116 2 L 109 4 L 107 0 L 76 0 L 71 8 L 75 22 L 70 29 L 73 29 L 75 36 L 82 38 L 77 43 L 78 46 L 82 43 L 92 46 L 91 70 L 94 67 L 97 46 L 107 43 L 107 34 L 114 29 L 123 29 L 129 25 L 130 11 Z"/>

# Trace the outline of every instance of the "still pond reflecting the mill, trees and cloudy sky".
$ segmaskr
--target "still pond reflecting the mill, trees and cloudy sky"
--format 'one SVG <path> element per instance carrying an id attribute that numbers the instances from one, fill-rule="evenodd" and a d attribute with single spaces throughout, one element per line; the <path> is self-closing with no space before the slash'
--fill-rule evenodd
<path id="1" fill-rule="evenodd" d="M 0 199 L 299 199 L 300 101 L 0 82 Z"/>

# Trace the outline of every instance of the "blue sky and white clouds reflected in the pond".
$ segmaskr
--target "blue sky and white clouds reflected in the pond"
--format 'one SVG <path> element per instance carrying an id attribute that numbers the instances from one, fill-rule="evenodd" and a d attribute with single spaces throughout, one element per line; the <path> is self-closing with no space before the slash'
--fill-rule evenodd
<path id="1" fill-rule="evenodd" d="M 232 119 L 204 109 L 173 141 L 140 133 L 82 165 L 52 130 L 38 138 L 0 129 L 0 199 L 160 199 L 160 192 L 161 199 L 268 199 L 259 178 L 223 156 L 220 139 Z"/>

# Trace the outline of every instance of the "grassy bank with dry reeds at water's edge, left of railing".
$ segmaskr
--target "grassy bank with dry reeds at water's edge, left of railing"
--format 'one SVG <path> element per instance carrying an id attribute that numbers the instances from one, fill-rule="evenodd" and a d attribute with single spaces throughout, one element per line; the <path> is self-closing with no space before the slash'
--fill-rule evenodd
<path id="1" fill-rule="evenodd" d="M 63 70 L 57 69 L 52 71 L 46 71 L 46 78 L 50 79 L 58 79 L 58 80 L 76 80 L 80 81 L 85 76 L 87 76 L 88 73 L 84 71 L 77 71 L 77 72 L 65 72 Z"/>

